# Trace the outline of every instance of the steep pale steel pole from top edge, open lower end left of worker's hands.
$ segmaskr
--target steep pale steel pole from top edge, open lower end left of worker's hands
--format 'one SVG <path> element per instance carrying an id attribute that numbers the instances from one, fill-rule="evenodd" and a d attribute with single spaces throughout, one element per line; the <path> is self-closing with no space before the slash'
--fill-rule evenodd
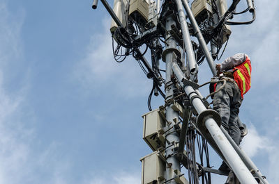
<path id="1" fill-rule="evenodd" d="M 195 60 L 195 54 L 192 46 L 192 41 L 190 39 L 190 33 L 188 29 L 188 25 L 186 22 L 185 14 L 182 8 L 181 0 L 176 0 L 177 11 L 179 12 L 179 21 L 181 24 L 181 31 L 183 36 L 183 42 L 186 47 L 186 53 L 188 57 L 188 67 L 190 69 L 190 73 L 193 74 L 197 67 L 197 62 Z"/>

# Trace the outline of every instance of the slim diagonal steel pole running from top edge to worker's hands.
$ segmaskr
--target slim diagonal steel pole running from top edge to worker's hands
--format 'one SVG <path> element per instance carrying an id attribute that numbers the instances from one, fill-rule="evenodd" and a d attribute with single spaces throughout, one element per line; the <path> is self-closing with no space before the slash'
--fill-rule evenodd
<path id="1" fill-rule="evenodd" d="M 179 0 L 177 0 L 179 1 Z M 199 26 L 197 25 L 196 19 L 193 15 L 192 10 L 190 9 L 188 3 L 186 2 L 186 0 L 182 0 L 183 2 L 183 6 L 187 12 L 187 15 L 190 19 L 190 22 L 194 28 L 197 40 L 199 40 L 199 45 L 202 48 L 202 51 L 204 52 L 204 56 L 207 60 L 207 63 L 209 64 L 209 68 L 211 69 L 211 72 L 213 74 L 213 76 L 216 76 L 216 68 L 215 68 L 215 62 L 213 61 L 213 58 L 211 56 L 211 53 L 209 52 L 209 49 L 206 46 L 206 42 L 204 40 L 204 37 L 202 36 L 202 32 L 199 30 Z"/>

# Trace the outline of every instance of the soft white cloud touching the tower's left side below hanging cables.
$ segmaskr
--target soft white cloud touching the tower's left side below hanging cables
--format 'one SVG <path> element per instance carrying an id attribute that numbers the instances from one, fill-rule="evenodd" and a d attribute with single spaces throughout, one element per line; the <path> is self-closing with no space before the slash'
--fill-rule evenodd
<path id="1" fill-rule="evenodd" d="M 85 57 L 77 63 L 75 76 L 80 79 L 84 89 L 106 88 L 116 96 L 147 96 L 151 90 L 151 81 L 144 76 L 133 56 L 118 63 L 112 53 L 111 19 L 103 19 L 99 33 L 91 36 Z"/>

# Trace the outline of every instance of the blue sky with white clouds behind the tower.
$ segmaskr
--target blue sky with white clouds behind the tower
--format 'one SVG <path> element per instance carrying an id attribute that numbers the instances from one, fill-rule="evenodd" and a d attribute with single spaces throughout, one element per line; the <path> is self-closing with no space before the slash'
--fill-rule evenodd
<path id="1" fill-rule="evenodd" d="M 132 57 L 114 61 L 110 16 L 91 3 L 0 0 L 0 184 L 140 183 L 140 158 L 151 153 L 141 116 L 152 81 Z M 279 183 L 279 1 L 255 7 L 253 24 L 232 26 L 218 62 L 250 56 L 241 147 L 269 183 Z M 204 62 L 199 83 L 210 78 Z M 151 106 L 160 105 L 153 97 Z M 220 162 L 214 158 L 214 167 Z"/>

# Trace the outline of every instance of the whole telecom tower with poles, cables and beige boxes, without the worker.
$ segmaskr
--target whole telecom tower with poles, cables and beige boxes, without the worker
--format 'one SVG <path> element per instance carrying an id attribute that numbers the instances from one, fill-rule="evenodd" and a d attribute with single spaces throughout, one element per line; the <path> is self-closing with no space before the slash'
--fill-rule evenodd
<path id="1" fill-rule="evenodd" d="M 152 151 L 140 159 L 142 184 L 209 184 L 212 174 L 226 175 L 226 183 L 268 184 L 221 126 L 220 115 L 207 101 L 210 95 L 202 97 L 199 87 L 203 85 L 197 81 L 204 60 L 213 76 L 209 83 L 218 81 L 214 60 L 225 51 L 230 26 L 255 20 L 254 1 L 246 0 L 247 8 L 241 12 L 236 12 L 240 0 L 114 0 L 113 7 L 100 1 L 112 16 L 116 62 L 133 56 L 153 81 L 147 102 L 150 111 L 142 115 L 143 139 Z M 97 6 L 94 0 L 92 8 Z M 234 22 L 244 13 L 252 19 Z M 153 95 L 165 99 L 156 110 L 151 109 Z M 209 147 L 232 172 L 211 167 Z"/>

